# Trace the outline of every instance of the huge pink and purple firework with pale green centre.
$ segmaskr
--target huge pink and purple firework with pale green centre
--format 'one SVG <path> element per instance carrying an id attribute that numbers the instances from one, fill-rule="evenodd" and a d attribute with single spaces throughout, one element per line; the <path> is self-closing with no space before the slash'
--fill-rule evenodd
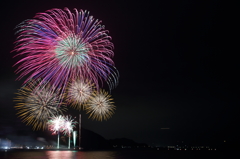
<path id="1" fill-rule="evenodd" d="M 68 8 L 38 13 L 20 23 L 13 51 L 21 59 L 18 79 L 42 78 L 57 88 L 66 88 L 76 79 L 90 79 L 97 89 L 107 82 L 112 89 L 118 83 L 114 67 L 113 43 L 101 21 L 88 11 Z"/>

